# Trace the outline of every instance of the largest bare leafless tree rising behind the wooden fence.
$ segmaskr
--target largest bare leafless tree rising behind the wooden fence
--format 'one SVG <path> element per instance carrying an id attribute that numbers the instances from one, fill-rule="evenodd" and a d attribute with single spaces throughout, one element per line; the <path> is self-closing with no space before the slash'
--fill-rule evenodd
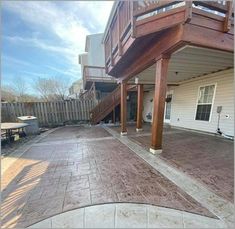
<path id="1" fill-rule="evenodd" d="M 35 83 L 35 90 L 46 101 L 65 100 L 68 84 L 57 78 L 38 78 Z"/>

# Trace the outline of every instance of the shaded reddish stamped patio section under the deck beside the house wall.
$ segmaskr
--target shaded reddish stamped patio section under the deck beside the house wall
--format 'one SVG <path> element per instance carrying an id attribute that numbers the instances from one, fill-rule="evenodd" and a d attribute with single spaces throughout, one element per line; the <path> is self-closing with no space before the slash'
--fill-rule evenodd
<path id="1" fill-rule="evenodd" d="M 149 150 L 149 136 L 132 136 L 130 138 Z M 233 141 L 165 128 L 163 152 L 160 157 L 199 180 L 211 191 L 233 202 Z"/>

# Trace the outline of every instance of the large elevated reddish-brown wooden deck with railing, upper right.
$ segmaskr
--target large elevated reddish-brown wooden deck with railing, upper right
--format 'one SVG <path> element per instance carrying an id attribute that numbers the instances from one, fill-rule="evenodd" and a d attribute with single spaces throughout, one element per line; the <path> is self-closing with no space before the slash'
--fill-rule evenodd
<path id="1" fill-rule="evenodd" d="M 142 3 L 116 4 L 105 31 L 106 72 L 120 81 L 188 44 L 233 52 L 232 2 Z"/>

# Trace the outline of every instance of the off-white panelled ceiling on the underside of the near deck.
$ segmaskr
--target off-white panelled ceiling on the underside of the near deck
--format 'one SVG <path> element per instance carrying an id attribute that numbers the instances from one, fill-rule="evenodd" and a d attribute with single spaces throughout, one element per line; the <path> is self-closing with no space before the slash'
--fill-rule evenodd
<path id="1" fill-rule="evenodd" d="M 171 55 L 167 81 L 180 83 L 194 77 L 234 67 L 233 53 L 185 46 Z M 138 75 L 140 83 L 154 84 L 155 64 Z M 130 81 L 134 82 L 133 77 Z"/>

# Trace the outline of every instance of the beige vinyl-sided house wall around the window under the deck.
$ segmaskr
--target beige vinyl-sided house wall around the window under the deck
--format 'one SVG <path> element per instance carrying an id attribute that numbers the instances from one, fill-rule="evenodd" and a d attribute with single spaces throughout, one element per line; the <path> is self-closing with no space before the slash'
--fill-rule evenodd
<path id="1" fill-rule="evenodd" d="M 173 90 L 171 120 L 172 126 L 190 128 L 215 133 L 217 129 L 217 106 L 222 106 L 220 129 L 227 135 L 234 136 L 234 69 L 206 75 L 183 82 Z M 195 120 L 198 90 L 200 86 L 216 84 L 214 103 L 210 121 Z M 152 114 L 154 91 L 144 94 L 143 119 L 151 122 L 146 115 Z M 228 115 L 228 117 L 226 117 Z"/>

